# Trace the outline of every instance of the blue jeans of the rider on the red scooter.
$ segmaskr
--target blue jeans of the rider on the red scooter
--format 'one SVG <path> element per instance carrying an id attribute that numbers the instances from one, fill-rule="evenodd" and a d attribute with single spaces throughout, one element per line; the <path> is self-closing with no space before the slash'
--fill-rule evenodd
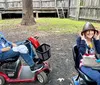
<path id="1" fill-rule="evenodd" d="M 19 56 L 21 56 L 29 66 L 34 65 L 33 58 L 34 58 L 35 55 L 31 56 L 29 53 L 22 54 L 22 53 L 19 53 L 19 52 L 14 52 L 12 49 L 7 51 L 7 52 L 1 53 L 0 54 L 0 61 L 4 61 L 8 58 L 19 57 Z"/>

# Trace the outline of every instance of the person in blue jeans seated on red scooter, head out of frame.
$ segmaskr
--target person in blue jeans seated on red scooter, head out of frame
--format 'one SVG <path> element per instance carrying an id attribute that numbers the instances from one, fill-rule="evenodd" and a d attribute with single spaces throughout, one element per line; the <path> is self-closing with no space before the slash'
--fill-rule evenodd
<path id="1" fill-rule="evenodd" d="M 33 51 L 32 54 L 33 55 L 29 54 L 28 49 L 25 45 L 17 46 L 17 44 L 7 41 L 4 35 L 0 33 L 0 61 L 4 61 L 12 57 L 21 56 L 24 61 L 30 66 L 32 72 L 35 72 L 41 69 L 43 66 L 41 64 L 36 65 L 34 63 L 33 58 L 35 54 Z"/>

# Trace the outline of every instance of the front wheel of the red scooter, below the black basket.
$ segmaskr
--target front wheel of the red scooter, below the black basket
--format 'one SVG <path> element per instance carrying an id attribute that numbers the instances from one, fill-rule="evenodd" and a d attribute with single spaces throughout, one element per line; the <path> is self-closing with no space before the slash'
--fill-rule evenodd
<path id="1" fill-rule="evenodd" d="M 37 79 L 41 84 L 46 84 L 48 81 L 48 76 L 45 72 L 41 72 L 37 75 Z"/>

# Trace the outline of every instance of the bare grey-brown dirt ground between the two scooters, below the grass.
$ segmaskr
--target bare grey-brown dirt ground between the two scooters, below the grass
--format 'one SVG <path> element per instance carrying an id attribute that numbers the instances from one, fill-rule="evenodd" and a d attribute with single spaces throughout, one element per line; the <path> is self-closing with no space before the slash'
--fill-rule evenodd
<path id="1" fill-rule="evenodd" d="M 49 62 L 52 66 L 52 72 L 49 76 L 49 82 L 46 85 L 69 85 L 70 79 L 76 74 L 72 57 L 72 47 L 75 44 L 76 34 L 55 34 L 50 32 L 39 32 L 26 28 L 2 29 L 6 38 L 16 42 L 27 39 L 34 34 L 39 35 L 39 42 L 47 43 L 51 46 L 51 58 Z M 60 81 L 59 79 L 62 79 Z M 34 83 L 16 83 L 6 85 L 40 85 Z"/>

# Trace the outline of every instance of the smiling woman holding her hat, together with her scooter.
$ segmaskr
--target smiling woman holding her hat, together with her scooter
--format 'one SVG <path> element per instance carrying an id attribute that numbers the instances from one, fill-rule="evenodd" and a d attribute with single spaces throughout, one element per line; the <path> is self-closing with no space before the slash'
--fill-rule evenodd
<path id="1" fill-rule="evenodd" d="M 96 55 L 100 54 L 99 39 L 99 31 L 87 22 L 77 38 L 77 45 L 72 49 L 75 69 L 78 72 L 78 76 L 72 78 L 73 85 L 100 85 L 100 59 Z M 86 58 L 89 59 L 89 57 L 93 61 L 90 66 L 85 63 Z M 98 65 L 92 67 L 94 63 Z"/>

